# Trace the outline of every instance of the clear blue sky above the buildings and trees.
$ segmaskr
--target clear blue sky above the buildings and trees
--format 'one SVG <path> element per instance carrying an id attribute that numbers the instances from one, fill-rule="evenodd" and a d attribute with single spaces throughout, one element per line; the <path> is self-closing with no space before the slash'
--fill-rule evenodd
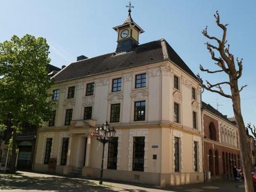
<path id="1" fill-rule="evenodd" d="M 51 64 L 59 67 L 79 55 L 93 57 L 113 52 L 117 34 L 112 27 L 126 18 L 127 4 L 126 0 L 0 1 L 0 41 L 9 40 L 12 35 L 42 36 L 50 44 Z M 221 21 L 229 23 L 231 53 L 244 59 L 240 81 L 240 85 L 248 85 L 241 94 L 244 120 L 256 124 L 255 0 L 133 0 L 132 5 L 133 20 L 145 30 L 140 43 L 165 38 L 194 73 L 199 72 L 199 64 L 217 69 L 201 31 L 207 25 L 209 34 L 221 36 L 213 18 L 219 10 Z M 211 82 L 227 78 L 225 74 L 200 74 Z M 203 94 L 203 100 L 214 107 L 217 99 L 219 111 L 233 116 L 229 99 L 208 91 Z"/>

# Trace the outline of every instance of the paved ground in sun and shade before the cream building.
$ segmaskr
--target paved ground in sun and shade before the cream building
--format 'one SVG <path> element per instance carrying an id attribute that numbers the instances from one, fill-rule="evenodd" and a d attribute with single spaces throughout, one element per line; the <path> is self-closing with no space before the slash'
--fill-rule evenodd
<path id="1" fill-rule="evenodd" d="M 99 186 L 98 181 L 92 179 L 70 178 L 51 174 L 18 171 L 16 175 L 0 173 L 0 190 L 9 192 L 242 192 L 244 191 L 244 187 L 242 183 L 239 183 L 238 187 L 236 187 L 236 183 L 233 181 L 216 181 L 211 183 L 197 183 L 193 185 L 164 188 L 137 183 L 118 183 L 117 181 L 108 181 L 103 182 L 103 186 Z"/>

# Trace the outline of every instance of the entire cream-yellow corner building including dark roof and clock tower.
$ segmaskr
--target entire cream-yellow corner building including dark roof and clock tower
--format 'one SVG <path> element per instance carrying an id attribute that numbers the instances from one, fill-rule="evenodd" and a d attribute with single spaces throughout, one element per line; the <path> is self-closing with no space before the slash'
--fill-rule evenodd
<path id="1" fill-rule="evenodd" d="M 103 178 L 182 185 L 203 182 L 201 86 L 165 39 L 139 45 L 131 18 L 114 27 L 117 48 L 78 57 L 55 74 L 52 115 L 38 130 L 34 170 L 99 177 L 102 144 L 91 132 L 116 129 Z M 113 39 L 115 40 L 115 39 Z"/>

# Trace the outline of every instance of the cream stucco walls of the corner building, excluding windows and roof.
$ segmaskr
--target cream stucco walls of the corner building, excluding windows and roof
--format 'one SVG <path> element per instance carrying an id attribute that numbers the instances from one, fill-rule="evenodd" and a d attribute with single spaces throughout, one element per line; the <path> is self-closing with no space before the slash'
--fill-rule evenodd
<path id="1" fill-rule="evenodd" d="M 146 87 L 135 89 L 135 76 L 141 73 L 146 73 Z M 179 90 L 173 87 L 174 74 L 179 77 Z M 112 80 L 115 78 L 122 78 L 122 90 L 112 93 Z M 95 85 L 94 95 L 85 96 L 86 84 L 90 82 Z M 70 86 L 76 86 L 75 97 L 67 99 Z M 192 87 L 196 89 L 196 99 L 192 99 Z M 181 185 L 203 181 L 201 88 L 197 81 L 173 63 L 156 63 L 97 77 L 61 82 L 53 85 L 49 92 L 52 93 L 57 88 L 60 89 L 60 95 L 59 101 L 53 106 L 57 111 L 55 127 L 48 127 L 45 122 L 45 128 L 38 131 L 35 170 L 68 174 L 75 168 L 82 167 L 83 175 L 99 177 L 102 144 L 91 136 L 91 132 L 97 124 L 110 120 L 111 104 L 120 103 L 120 122 L 110 123 L 117 130 L 117 169 L 107 169 L 106 145 L 103 166 L 105 178 L 154 185 Z M 145 121 L 134 121 L 136 101 L 146 101 Z M 180 105 L 179 123 L 173 121 L 174 102 Z M 83 120 L 85 106 L 92 106 L 92 120 Z M 69 108 L 73 108 L 71 125 L 63 126 L 65 111 Z M 193 128 L 193 111 L 197 114 L 196 129 Z M 133 137 L 141 136 L 145 137 L 144 171 L 132 171 Z M 63 137 L 69 137 L 66 165 L 60 165 Z M 174 137 L 180 138 L 178 172 L 174 172 Z M 57 160 L 54 170 L 44 164 L 47 138 L 52 138 L 51 158 Z M 194 170 L 194 141 L 198 142 L 197 171 Z"/>

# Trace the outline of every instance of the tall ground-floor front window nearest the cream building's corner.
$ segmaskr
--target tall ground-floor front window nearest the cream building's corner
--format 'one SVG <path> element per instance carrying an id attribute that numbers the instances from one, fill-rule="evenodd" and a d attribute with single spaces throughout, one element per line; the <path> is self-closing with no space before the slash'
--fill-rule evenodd
<path id="1" fill-rule="evenodd" d="M 133 137 L 133 171 L 144 171 L 145 137 Z"/>

